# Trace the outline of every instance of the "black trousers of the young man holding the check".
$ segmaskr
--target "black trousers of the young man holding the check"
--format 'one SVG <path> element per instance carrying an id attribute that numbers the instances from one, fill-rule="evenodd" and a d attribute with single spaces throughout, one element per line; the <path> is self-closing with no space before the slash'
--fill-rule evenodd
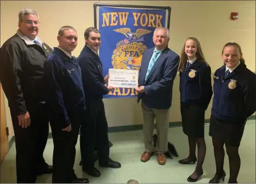
<path id="1" fill-rule="evenodd" d="M 98 152 L 99 163 L 109 158 L 108 122 L 102 99 L 87 104 L 85 120 L 80 130 L 80 150 L 83 168 L 94 167 L 94 151 Z"/>

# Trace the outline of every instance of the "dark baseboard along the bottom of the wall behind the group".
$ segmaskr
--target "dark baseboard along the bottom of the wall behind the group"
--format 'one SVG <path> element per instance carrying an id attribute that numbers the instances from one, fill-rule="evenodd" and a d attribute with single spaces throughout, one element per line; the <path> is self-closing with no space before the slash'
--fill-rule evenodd
<path id="1" fill-rule="evenodd" d="M 250 116 L 248 120 L 255 120 L 256 115 Z M 210 119 L 205 119 L 205 125 L 210 123 Z M 181 127 L 182 122 L 169 122 L 169 128 L 174 128 L 174 127 Z M 126 125 L 126 126 L 114 126 L 114 127 L 109 127 L 109 133 L 115 133 L 115 132 L 127 132 L 127 131 L 134 131 L 134 130 L 142 130 L 143 125 Z M 155 125 L 156 128 L 156 125 Z M 49 133 L 48 139 L 53 138 L 51 135 L 51 132 Z M 8 150 L 12 147 L 13 143 L 15 142 L 15 136 L 12 136 L 12 138 L 9 140 L 9 148 Z"/>

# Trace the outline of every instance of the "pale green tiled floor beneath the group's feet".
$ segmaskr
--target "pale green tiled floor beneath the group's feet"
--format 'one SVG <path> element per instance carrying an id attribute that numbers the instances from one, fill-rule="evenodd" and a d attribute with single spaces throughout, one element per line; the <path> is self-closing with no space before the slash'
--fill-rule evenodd
<path id="1" fill-rule="evenodd" d="M 213 155 L 212 140 L 208 136 L 209 126 L 205 126 L 205 138 L 207 153 L 205 164 L 203 165 L 204 175 L 198 183 L 208 183 L 215 174 L 215 159 Z M 144 151 L 143 135 L 141 130 L 133 132 L 110 133 L 109 139 L 113 146 L 110 148 L 110 157 L 120 161 L 122 168 L 102 169 L 99 178 L 88 177 L 79 166 L 80 153 L 79 143 L 77 144 L 77 157 L 75 159 L 75 172 L 79 177 L 89 178 L 91 183 L 126 183 L 129 179 L 136 179 L 140 183 L 187 183 L 186 178 L 192 174 L 195 165 L 181 165 L 178 160 L 185 158 L 188 154 L 187 137 L 182 132 L 182 128 L 169 128 L 169 140 L 174 143 L 179 153 L 179 158 L 168 159 L 165 165 L 157 164 L 157 157 L 153 156 L 150 161 L 144 163 L 140 161 L 140 155 Z M 51 164 L 53 155 L 53 141 L 47 142 L 44 156 Z M 255 183 L 255 121 L 247 122 L 244 136 L 240 146 L 241 169 L 238 182 Z M 229 162 L 225 157 L 224 170 L 227 173 L 224 183 L 229 180 Z M 1 183 L 15 183 L 15 145 L 13 144 L 5 161 L 1 165 Z M 51 183 L 51 175 L 40 176 L 37 183 Z"/>

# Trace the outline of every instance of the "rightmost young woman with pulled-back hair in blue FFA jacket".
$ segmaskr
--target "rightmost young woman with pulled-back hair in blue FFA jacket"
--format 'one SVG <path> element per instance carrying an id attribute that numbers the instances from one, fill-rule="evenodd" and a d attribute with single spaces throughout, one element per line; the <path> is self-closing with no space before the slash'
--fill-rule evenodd
<path id="1" fill-rule="evenodd" d="M 213 76 L 213 105 L 209 135 L 215 153 L 216 174 L 209 183 L 224 181 L 224 144 L 229 156 L 229 183 L 237 183 L 240 170 L 238 148 L 247 118 L 255 112 L 256 75 L 247 69 L 237 43 L 222 50 L 224 65 Z"/>

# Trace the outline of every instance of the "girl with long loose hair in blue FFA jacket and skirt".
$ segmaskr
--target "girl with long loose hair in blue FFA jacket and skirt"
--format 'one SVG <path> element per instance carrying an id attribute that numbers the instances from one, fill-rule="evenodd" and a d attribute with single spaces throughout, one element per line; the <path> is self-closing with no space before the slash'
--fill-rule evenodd
<path id="1" fill-rule="evenodd" d="M 199 41 L 194 37 L 187 38 L 182 48 L 179 76 L 182 128 L 189 143 L 189 156 L 179 160 L 179 163 L 195 164 L 198 145 L 198 163 L 187 179 L 188 182 L 196 182 L 203 175 L 206 154 L 205 111 L 213 92 L 210 66 L 205 61 Z"/>

